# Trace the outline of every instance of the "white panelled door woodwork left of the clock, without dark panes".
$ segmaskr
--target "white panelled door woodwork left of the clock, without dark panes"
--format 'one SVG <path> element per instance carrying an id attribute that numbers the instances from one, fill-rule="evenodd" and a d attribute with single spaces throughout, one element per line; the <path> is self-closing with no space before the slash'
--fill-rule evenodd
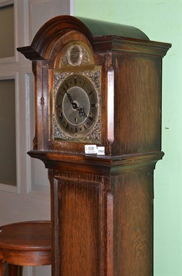
<path id="1" fill-rule="evenodd" d="M 32 63 L 18 47 L 29 46 L 48 19 L 74 14 L 74 0 L 0 0 L 0 8 L 14 3 L 14 57 L 0 59 L 0 79 L 15 81 L 17 186 L 0 184 L 0 225 L 50 219 L 50 184 L 43 163 L 31 159 L 34 137 L 34 77 Z M 4 145 L 8 146 L 8 145 Z M 1 154 L 1 152 L 0 152 Z M 43 268 L 44 269 L 44 268 Z M 29 268 L 24 275 L 49 275 Z"/>

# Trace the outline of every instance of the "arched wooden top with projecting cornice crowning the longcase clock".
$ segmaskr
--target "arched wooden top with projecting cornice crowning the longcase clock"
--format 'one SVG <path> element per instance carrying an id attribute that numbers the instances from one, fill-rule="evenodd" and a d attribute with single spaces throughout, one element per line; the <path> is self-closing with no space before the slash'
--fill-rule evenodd
<path id="1" fill-rule="evenodd" d="M 54 45 L 68 32 L 85 35 L 96 52 L 119 50 L 163 57 L 170 44 L 150 41 L 138 28 L 83 17 L 62 15 L 47 21 L 30 46 L 17 48 L 27 59 L 46 60 Z"/>

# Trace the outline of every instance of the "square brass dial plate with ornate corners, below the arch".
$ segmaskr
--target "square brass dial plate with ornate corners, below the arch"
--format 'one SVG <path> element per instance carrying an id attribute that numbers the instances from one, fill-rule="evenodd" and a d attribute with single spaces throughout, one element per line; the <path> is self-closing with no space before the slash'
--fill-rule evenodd
<path id="1" fill-rule="evenodd" d="M 100 71 L 54 73 L 54 139 L 100 141 Z"/>

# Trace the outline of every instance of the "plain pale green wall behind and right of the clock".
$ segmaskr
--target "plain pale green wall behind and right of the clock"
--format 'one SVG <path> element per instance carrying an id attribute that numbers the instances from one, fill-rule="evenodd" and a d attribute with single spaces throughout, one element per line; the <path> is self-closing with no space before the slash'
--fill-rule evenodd
<path id="1" fill-rule="evenodd" d="M 182 276 L 181 1 L 74 0 L 74 9 L 75 16 L 135 26 L 150 40 L 172 43 L 163 59 L 165 157 L 154 171 L 154 276 Z"/>

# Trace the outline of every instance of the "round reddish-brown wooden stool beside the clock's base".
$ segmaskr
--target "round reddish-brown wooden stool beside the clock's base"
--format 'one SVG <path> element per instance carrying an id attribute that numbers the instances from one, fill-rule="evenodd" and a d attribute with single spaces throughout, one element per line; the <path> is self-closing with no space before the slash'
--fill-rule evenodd
<path id="1" fill-rule="evenodd" d="M 0 226 L 0 276 L 6 264 L 8 276 L 17 276 L 19 266 L 51 264 L 50 221 L 26 221 Z"/>

